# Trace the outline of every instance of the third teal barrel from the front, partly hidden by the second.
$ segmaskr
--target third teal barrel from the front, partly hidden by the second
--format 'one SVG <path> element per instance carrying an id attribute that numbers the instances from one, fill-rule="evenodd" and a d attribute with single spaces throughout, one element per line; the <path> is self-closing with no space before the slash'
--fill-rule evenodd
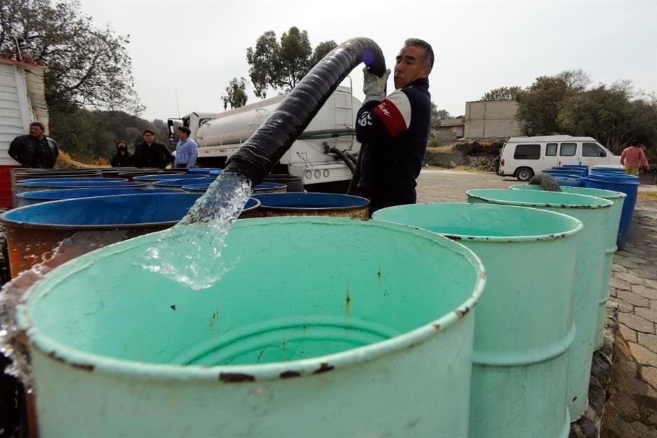
<path id="1" fill-rule="evenodd" d="M 536 207 L 557 211 L 582 221 L 584 229 L 577 237 L 577 263 L 575 268 L 575 288 L 573 300 L 573 319 L 576 335 L 570 348 L 568 377 L 568 410 L 571 421 L 578 420 L 589 406 L 589 379 L 591 359 L 597 324 L 597 308 L 602 287 L 602 268 L 604 253 L 608 246 L 606 221 L 611 201 L 581 194 L 534 192 L 530 190 L 468 190 L 468 200 L 472 203 L 493 203 Z M 537 253 L 528 263 L 543 266 L 545 257 Z M 511 267 L 510 267 L 511 269 Z M 513 270 L 513 274 L 521 269 Z M 551 272 L 556 277 L 564 272 Z M 519 328 L 521 330 L 522 328 Z"/>

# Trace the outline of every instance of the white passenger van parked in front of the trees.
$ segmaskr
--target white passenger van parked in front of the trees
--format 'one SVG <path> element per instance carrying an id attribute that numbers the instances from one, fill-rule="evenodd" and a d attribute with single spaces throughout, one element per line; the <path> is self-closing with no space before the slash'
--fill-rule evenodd
<path id="1" fill-rule="evenodd" d="M 509 138 L 500 154 L 501 177 L 529 181 L 543 169 L 564 164 L 620 164 L 621 157 L 591 137 L 543 136 Z"/>

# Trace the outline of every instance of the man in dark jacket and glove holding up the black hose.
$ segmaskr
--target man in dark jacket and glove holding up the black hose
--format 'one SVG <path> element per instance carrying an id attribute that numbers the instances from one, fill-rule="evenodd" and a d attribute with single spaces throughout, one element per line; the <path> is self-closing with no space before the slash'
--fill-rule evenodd
<path id="1" fill-rule="evenodd" d="M 377 77 L 367 68 L 365 101 L 358 112 L 361 179 L 357 192 L 370 199 L 370 214 L 391 205 L 413 204 L 431 121 L 428 75 L 433 68 L 430 44 L 409 38 L 397 55 L 395 91 L 385 96 L 390 74 Z"/>

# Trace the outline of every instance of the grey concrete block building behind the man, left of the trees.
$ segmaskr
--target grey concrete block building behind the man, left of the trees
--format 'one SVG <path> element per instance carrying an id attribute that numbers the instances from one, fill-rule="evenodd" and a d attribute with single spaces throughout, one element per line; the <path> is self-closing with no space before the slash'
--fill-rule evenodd
<path id="1" fill-rule="evenodd" d="M 515 101 L 465 103 L 465 138 L 506 138 L 519 133 Z"/>

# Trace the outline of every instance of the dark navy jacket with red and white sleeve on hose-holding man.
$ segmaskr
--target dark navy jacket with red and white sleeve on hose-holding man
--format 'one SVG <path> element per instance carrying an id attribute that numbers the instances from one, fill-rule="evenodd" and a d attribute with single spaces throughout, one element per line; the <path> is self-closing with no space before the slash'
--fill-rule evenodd
<path id="1" fill-rule="evenodd" d="M 429 80 L 417 79 L 381 102 L 366 102 L 356 119 L 361 142 L 358 193 L 375 210 L 413 204 L 431 125 Z"/>

